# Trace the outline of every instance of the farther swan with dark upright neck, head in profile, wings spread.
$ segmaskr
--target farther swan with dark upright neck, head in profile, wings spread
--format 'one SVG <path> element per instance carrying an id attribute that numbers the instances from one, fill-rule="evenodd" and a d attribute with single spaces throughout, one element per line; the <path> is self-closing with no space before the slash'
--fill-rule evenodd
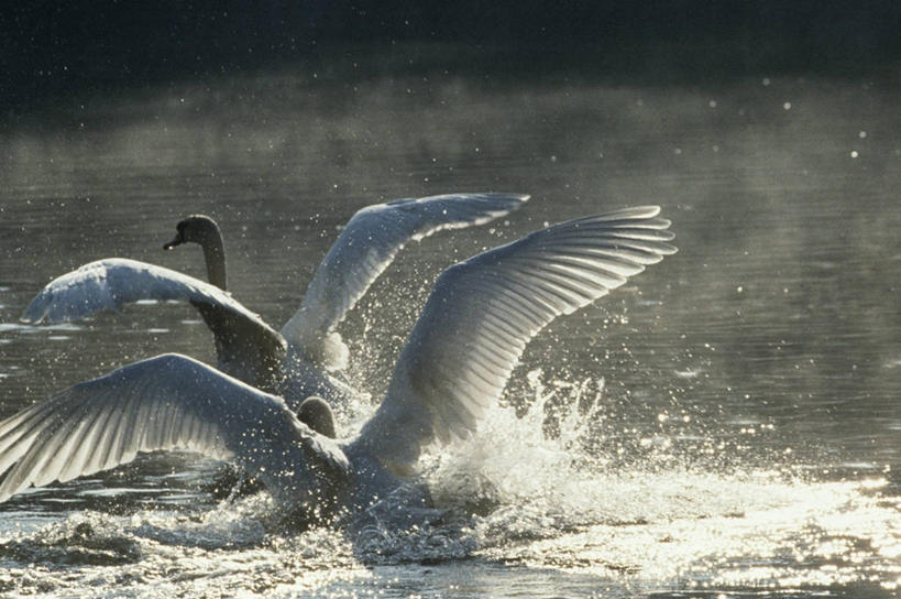
<path id="1" fill-rule="evenodd" d="M 297 312 L 281 331 L 227 292 L 226 251 L 216 222 L 195 215 L 182 220 L 164 246 L 199 243 L 209 283 L 134 260 L 109 258 L 48 283 L 22 320 L 58 323 L 101 309 L 119 311 L 141 300 L 190 302 L 213 334 L 217 368 L 284 397 L 295 409 L 310 395 L 345 402 L 353 389 L 337 374 L 348 349 L 334 330 L 397 252 L 409 241 L 443 229 L 482 225 L 517 209 L 521 194 L 450 194 L 362 208 L 347 224 L 316 270 Z"/>

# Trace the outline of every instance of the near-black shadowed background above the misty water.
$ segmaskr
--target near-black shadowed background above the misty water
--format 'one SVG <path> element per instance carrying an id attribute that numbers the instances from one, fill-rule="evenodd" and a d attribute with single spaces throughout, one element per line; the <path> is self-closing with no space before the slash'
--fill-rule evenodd
<path id="1" fill-rule="evenodd" d="M 891 1 L 17 4 L 0 9 L 0 109 L 13 121 L 84 92 L 300 64 L 666 85 L 856 77 L 901 56 Z"/>

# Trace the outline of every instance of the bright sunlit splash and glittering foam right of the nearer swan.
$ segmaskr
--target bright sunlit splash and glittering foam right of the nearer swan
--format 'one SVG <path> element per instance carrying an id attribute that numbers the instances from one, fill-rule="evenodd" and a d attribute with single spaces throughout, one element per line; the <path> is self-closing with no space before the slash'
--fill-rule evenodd
<path id="1" fill-rule="evenodd" d="M 666 455 L 662 464 L 620 469 L 584 450 L 591 416 L 603 404 L 582 407 L 589 385 L 562 385 L 570 411 L 559 417 L 559 435 L 549 437 L 545 407 L 561 385 L 547 392 L 552 385 L 540 371 L 529 381 L 536 397 L 524 418 L 497 407 L 479 435 L 432 458 L 436 499 L 475 512 L 469 524 L 475 555 L 625 574 L 664 588 L 688 581 L 893 590 L 901 580 L 901 501 L 884 478 L 824 482 L 789 462 L 737 469 L 716 456 L 685 466 Z"/>

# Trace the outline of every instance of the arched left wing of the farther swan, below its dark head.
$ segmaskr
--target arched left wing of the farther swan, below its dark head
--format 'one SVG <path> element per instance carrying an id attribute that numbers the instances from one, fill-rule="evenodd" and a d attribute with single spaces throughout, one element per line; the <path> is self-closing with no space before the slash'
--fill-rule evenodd
<path id="1" fill-rule="evenodd" d="M 219 287 L 146 262 L 108 258 L 85 264 L 48 283 L 22 320 L 72 320 L 142 300 L 190 302 L 212 330 L 220 368 L 261 389 L 274 388 L 271 379 L 285 352 L 278 333 Z"/>

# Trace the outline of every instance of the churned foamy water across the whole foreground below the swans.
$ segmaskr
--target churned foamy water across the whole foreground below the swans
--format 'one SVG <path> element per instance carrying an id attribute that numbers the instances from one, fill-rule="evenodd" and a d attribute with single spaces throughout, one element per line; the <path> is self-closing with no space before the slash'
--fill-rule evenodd
<path id="1" fill-rule="evenodd" d="M 536 370 L 527 388 L 531 396 L 514 399 L 518 410 L 492 409 L 476 435 L 427 456 L 433 508 L 413 511 L 403 497 L 387 497 L 339 527 L 298 531 L 265 493 L 210 503 L 199 490 L 210 475 L 201 465 L 198 476 L 175 479 L 186 499 L 174 504 L 136 501 L 127 491 L 142 487 L 125 480 L 123 492 L 91 495 L 101 503 L 88 510 L 10 514 L 17 524 L 0 530 L 0 590 L 408 596 L 422 590 L 415 575 L 422 568 L 453 586 L 494 564 L 543 571 L 545 580 L 565 573 L 575 595 L 600 581 L 613 595 L 897 590 L 901 502 L 884 478 L 817 481 L 788 462 L 740 469 L 725 456 L 681 460 L 661 436 L 638 439 L 634 446 L 648 451 L 624 467 L 593 443 L 593 424 L 609 409 L 603 381 L 546 380 Z M 361 401 L 348 417 L 371 410 Z"/>

